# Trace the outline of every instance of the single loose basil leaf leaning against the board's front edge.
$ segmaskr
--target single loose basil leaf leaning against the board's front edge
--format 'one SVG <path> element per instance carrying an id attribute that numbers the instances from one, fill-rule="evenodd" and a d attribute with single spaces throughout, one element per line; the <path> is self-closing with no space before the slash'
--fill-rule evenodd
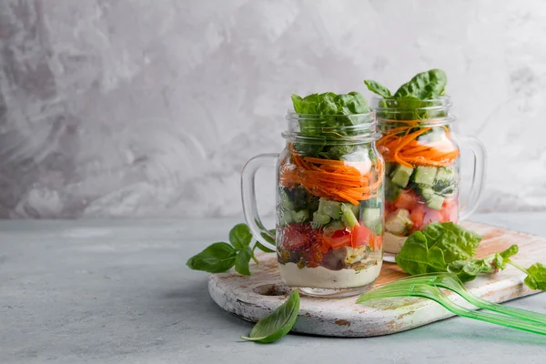
<path id="1" fill-rule="evenodd" d="M 295 290 L 288 300 L 268 316 L 260 319 L 250 331 L 248 337 L 241 337 L 249 341 L 258 341 L 265 344 L 277 341 L 292 329 L 298 319 L 299 294 Z"/>

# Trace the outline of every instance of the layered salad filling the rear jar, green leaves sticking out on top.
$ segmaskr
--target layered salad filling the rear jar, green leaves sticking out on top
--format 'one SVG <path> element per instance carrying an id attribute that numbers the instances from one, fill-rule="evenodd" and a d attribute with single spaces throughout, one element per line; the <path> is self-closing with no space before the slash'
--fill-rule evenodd
<path id="1" fill-rule="evenodd" d="M 438 69 L 420 73 L 391 94 L 365 81 L 383 136 L 377 146 L 386 161 L 385 251 L 399 253 L 406 238 L 431 222 L 459 217 L 459 147 L 450 130 L 450 98 Z"/>

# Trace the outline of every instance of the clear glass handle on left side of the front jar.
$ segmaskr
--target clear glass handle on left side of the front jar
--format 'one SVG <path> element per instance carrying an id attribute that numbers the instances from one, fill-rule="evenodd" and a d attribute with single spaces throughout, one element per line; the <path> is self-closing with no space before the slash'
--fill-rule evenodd
<path id="1" fill-rule="evenodd" d="M 260 154 L 256 157 L 250 158 L 241 174 L 241 197 L 243 200 L 243 214 L 247 225 L 250 227 L 250 231 L 254 238 L 256 238 L 264 246 L 276 250 L 275 245 L 268 242 L 262 235 L 266 235 L 269 238 L 275 240 L 275 235 L 271 234 L 269 230 L 264 227 L 261 219 L 258 216 L 258 205 L 256 204 L 256 172 L 260 167 L 268 167 L 277 165 L 278 154 L 268 153 Z"/>

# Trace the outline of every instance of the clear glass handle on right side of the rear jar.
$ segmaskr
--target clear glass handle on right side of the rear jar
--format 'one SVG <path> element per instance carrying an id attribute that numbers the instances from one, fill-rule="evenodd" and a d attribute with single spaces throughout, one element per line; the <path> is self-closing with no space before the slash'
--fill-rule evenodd
<path id="1" fill-rule="evenodd" d="M 460 205 L 460 220 L 464 220 L 476 210 L 480 203 L 481 192 L 485 183 L 487 152 L 480 140 L 473 136 L 460 136 L 459 140 L 463 146 L 470 148 L 474 155 L 474 173 L 472 174 L 470 192 L 465 203 Z"/>

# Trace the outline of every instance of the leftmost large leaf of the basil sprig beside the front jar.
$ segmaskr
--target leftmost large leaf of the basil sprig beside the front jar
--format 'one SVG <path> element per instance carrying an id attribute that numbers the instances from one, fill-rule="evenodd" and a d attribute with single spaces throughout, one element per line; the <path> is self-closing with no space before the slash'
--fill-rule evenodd
<path id="1" fill-rule="evenodd" d="M 214 243 L 196 256 L 187 259 L 187 267 L 209 273 L 221 273 L 235 264 L 237 252 L 227 243 Z"/>

